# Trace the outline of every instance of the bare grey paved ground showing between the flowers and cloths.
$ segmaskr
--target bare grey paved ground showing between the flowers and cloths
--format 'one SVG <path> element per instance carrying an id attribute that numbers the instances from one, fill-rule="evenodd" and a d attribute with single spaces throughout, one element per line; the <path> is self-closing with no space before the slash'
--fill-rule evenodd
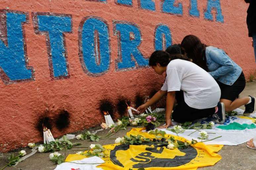
<path id="1" fill-rule="evenodd" d="M 240 97 L 245 97 L 248 95 L 256 96 L 256 82 L 247 83 L 245 90 L 242 92 Z M 241 107 L 242 108 L 242 107 Z M 95 128 L 97 129 L 97 128 Z M 92 129 L 92 130 L 95 130 Z M 99 129 L 99 128 L 98 128 Z M 113 138 L 123 136 L 127 131 L 117 132 Z M 107 130 L 100 131 L 97 134 L 104 136 L 107 133 Z M 256 134 L 255 134 L 256 135 Z M 83 146 L 89 146 L 91 143 L 89 140 L 71 140 L 72 142 L 81 142 Z M 102 139 L 99 141 L 100 144 L 106 145 L 114 142 L 114 139 Z M 24 148 L 28 153 L 31 152 L 29 148 Z M 78 149 L 78 148 L 75 148 Z M 19 149 L 21 150 L 21 149 Z M 68 154 L 74 154 L 78 151 L 69 151 Z M 61 153 L 61 152 L 60 152 Z M 6 163 L 6 158 L 12 153 L 0 153 L 0 168 L 2 168 Z M 218 153 L 223 158 L 216 163 L 214 166 L 199 168 L 199 170 L 255 170 L 256 169 L 256 151 L 246 148 L 245 144 L 238 146 L 224 146 L 223 149 Z M 49 159 L 49 153 L 36 153 L 33 156 L 30 156 L 23 162 L 20 162 L 17 167 L 7 167 L 6 170 L 51 170 L 54 169 L 54 165 Z"/>

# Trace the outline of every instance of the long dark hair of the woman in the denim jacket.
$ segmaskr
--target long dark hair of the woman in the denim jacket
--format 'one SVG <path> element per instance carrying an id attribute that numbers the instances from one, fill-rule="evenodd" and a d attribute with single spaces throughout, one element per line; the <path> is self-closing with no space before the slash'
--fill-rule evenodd
<path id="1" fill-rule="evenodd" d="M 207 46 L 201 43 L 200 39 L 194 35 L 187 35 L 181 42 L 181 47 L 187 53 L 188 58 L 191 58 L 193 63 L 205 71 L 209 71 L 205 58 L 205 48 Z"/>

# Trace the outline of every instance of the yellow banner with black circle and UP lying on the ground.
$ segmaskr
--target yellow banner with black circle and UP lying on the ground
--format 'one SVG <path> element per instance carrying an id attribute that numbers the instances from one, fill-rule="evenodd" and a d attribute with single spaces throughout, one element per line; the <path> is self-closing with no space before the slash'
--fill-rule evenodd
<path id="1" fill-rule="evenodd" d="M 146 138 L 155 138 L 141 131 L 142 128 L 133 128 L 127 135 L 141 135 Z M 166 135 L 165 137 L 170 137 Z M 176 140 L 182 142 L 190 142 L 185 138 L 173 136 Z M 156 142 L 156 143 L 154 143 Z M 154 142 L 143 142 L 141 145 L 105 145 L 105 153 L 107 158 L 103 158 L 106 163 L 101 164 L 105 170 L 129 170 L 145 168 L 145 170 L 185 170 L 197 169 L 197 167 L 214 165 L 221 159 L 221 156 L 216 154 L 223 145 L 205 145 L 196 143 L 188 148 L 170 150 L 167 148 L 168 142 L 162 139 L 155 139 Z M 162 142 L 162 143 L 157 143 Z M 66 161 L 80 160 L 86 156 L 70 154 Z"/>

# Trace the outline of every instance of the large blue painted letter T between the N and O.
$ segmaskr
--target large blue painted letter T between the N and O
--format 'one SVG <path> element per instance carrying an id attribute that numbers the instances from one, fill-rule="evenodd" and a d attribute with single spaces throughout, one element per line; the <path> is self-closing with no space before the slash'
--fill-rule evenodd
<path id="1" fill-rule="evenodd" d="M 46 37 L 46 46 L 51 76 L 54 78 L 69 75 L 63 33 L 72 31 L 71 20 L 72 17 L 66 15 L 37 15 L 38 31 L 47 32 L 49 35 L 49 38 Z"/>

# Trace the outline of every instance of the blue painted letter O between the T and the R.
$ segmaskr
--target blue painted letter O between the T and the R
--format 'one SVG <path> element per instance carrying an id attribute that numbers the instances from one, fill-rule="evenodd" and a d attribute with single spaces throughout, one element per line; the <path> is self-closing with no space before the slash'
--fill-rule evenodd
<path id="1" fill-rule="evenodd" d="M 79 28 L 79 58 L 84 72 L 93 75 L 106 72 L 110 63 L 109 51 L 107 24 L 98 17 L 82 21 Z"/>

